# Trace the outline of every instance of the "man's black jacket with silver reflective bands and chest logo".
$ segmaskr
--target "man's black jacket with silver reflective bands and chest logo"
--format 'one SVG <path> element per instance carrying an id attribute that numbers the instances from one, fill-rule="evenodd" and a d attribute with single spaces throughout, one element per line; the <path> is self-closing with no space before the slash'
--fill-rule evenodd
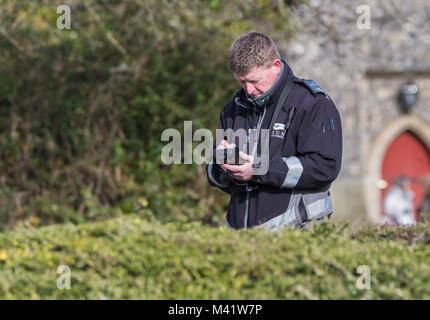
<path id="1" fill-rule="evenodd" d="M 283 63 L 283 72 L 265 105 L 252 103 L 240 89 L 221 110 L 218 129 L 268 129 L 288 77 L 294 81 L 269 130 L 266 174 L 253 175 L 244 183 L 215 163 L 206 166 L 210 185 L 231 194 L 225 220 L 230 228 L 260 226 L 274 231 L 288 225 L 302 226 L 333 213 L 329 188 L 339 174 L 342 159 L 339 112 L 315 82 L 294 77 L 288 64 Z M 249 140 L 241 143 L 234 139 L 236 146 L 250 154 Z M 260 152 L 261 138 L 256 154 Z"/>

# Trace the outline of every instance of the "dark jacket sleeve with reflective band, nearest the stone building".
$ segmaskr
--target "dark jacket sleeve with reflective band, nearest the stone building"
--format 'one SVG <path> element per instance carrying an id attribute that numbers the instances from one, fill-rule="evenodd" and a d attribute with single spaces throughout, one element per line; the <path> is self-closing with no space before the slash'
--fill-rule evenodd
<path id="1" fill-rule="evenodd" d="M 318 189 L 336 179 L 342 160 L 339 112 L 329 99 L 319 99 L 297 119 L 296 154 L 269 161 L 265 175 L 252 180 L 279 188 Z"/>

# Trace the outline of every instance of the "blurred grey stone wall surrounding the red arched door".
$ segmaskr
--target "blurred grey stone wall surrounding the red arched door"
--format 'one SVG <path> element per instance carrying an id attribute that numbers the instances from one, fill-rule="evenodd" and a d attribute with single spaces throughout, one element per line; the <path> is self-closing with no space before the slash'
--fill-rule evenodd
<path id="1" fill-rule="evenodd" d="M 370 8 L 370 29 L 357 27 L 361 5 Z M 370 153 L 381 132 L 402 117 L 397 94 L 408 79 L 420 90 L 412 113 L 430 124 L 430 3 L 310 0 L 294 10 L 294 18 L 297 36 L 281 43 L 280 51 L 297 76 L 320 84 L 342 118 L 335 210 L 348 220 L 376 222 L 370 202 L 379 200 L 366 196 L 378 178 L 369 172 Z"/>

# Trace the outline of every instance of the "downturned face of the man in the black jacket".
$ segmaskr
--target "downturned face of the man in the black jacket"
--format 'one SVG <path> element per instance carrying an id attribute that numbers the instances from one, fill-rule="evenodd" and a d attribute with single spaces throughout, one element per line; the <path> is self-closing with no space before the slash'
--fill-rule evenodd
<path id="1" fill-rule="evenodd" d="M 255 99 L 270 89 L 281 69 L 282 62 L 276 59 L 269 67 L 254 67 L 247 74 L 238 75 L 235 73 L 234 77 L 248 96 Z"/>

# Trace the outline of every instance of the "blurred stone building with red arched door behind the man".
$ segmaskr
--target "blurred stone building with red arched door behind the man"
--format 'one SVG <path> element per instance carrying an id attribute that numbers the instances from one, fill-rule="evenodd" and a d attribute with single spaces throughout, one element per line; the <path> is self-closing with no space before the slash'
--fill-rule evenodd
<path id="1" fill-rule="evenodd" d="M 281 42 L 281 54 L 297 76 L 329 94 L 342 117 L 334 217 L 379 223 L 390 179 L 430 172 L 430 3 L 311 0 L 294 19 L 296 37 Z M 419 91 L 411 91 L 418 98 L 406 113 L 398 99 L 408 81 Z M 412 187 L 417 207 L 425 190 Z"/>

